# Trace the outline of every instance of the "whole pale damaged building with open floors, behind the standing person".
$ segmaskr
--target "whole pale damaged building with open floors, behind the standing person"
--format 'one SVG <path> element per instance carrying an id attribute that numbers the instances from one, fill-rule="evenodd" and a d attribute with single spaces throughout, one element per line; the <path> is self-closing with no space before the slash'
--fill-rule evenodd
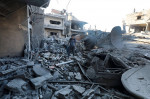
<path id="1" fill-rule="evenodd" d="M 85 24 L 87 22 L 80 21 L 72 13 L 66 12 L 66 10 L 59 11 L 52 9 L 50 14 L 45 14 L 45 35 L 46 37 L 50 35 L 66 37 L 72 34 L 85 34 Z"/>

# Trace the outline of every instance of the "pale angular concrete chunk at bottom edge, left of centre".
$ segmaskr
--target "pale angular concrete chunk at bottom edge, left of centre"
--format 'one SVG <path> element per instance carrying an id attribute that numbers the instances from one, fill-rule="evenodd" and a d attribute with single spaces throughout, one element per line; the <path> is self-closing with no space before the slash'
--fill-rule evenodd
<path id="1" fill-rule="evenodd" d="M 71 93 L 71 91 L 72 91 L 72 89 L 70 89 L 70 85 L 68 85 L 67 87 L 65 87 L 65 88 L 62 88 L 62 89 L 60 89 L 59 91 L 56 91 L 55 92 L 55 96 L 56 97 L 59 97 L 59 98 L 63 98 L 63 99 L 66 99 L 65 97 L 67 96 L 67 95 L 69 95 L 70 93 Z"/>

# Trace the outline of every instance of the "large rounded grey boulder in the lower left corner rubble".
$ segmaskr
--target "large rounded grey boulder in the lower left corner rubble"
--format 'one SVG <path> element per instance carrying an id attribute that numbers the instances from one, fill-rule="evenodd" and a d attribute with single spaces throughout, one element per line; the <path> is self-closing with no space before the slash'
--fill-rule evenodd
<path id="1" fill-rule="evenodd" d="M 16 79 L 13 79 L 11 80 L 7 85 L 6 85 L 6 88 L 10 91 L 13 91 L 13 92 L 23 92 L 22 90 L 22 86 L 23 85 L 26 85 L 27 83 L 20 79 L 20 78 L 16 78 Z"/>

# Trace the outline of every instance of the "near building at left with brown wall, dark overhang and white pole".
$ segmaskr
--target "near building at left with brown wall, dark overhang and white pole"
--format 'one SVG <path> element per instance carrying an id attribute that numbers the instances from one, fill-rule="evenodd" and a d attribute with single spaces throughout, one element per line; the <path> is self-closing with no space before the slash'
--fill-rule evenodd
<path id="1" fill-rule="evenodd" d="M 49 0 L 0 1 L 0 57 L 23 56 L 25 48 L 31 51 L 32 41 L 38 39 L 43 30 L 40 7 L 48 4 Z"/>

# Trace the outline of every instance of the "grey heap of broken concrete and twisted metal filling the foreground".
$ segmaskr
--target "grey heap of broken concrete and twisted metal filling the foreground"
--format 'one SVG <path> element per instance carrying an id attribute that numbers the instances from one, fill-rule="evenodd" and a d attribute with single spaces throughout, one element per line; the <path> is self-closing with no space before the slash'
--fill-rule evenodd
<path id="1" fill-rule="evenodd" d="M 75 56 L 68 58 L 64 46 L 66 42 L 51 38 L 44 40 L 42 48 L 32 52 L 30 60 L 0 59 L 1 99 L 132 98 L 120 86 L 109 86 L 101 79 L 120 77 L 128 64 L 115 58 L 111 50 L 104 49 L 78 51 Z"/>

